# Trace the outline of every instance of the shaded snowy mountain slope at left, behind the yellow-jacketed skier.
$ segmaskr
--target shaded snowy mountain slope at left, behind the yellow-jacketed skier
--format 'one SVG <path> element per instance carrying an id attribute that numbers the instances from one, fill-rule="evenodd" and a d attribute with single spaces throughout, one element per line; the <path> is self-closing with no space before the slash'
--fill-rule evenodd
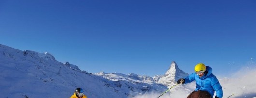
<path id="1" fill-rule="evenodd" d="M 71 69 L 48 53 L 21 51 L 0 45 L 0 95 L 3 98 L 68 98 L 77 87 L 90 98 L 126 98 L 115 82 Z"/>

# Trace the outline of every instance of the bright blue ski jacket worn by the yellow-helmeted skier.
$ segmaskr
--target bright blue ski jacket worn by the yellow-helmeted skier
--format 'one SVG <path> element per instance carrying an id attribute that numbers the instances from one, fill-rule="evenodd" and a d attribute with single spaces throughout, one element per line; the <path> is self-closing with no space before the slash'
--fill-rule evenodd
<path id="1" fill-rule="evenodd" d="M 212 74 L 212 68 L 206 66 L 206 72 L 202 77 L 199 77 L 196 73 L 192 73 L 189 76 L 185 77 L 185 83 L 190 83 L 196 80 L 196 89 L 195 91 L 202 90 L 207 91 L 211 94 L 212 98 L 214 92 L 216 91 L 216 96 L 219 98 L 223 97 L 222 87 L 219 83 L 219 80 L 215 75 Z"/>

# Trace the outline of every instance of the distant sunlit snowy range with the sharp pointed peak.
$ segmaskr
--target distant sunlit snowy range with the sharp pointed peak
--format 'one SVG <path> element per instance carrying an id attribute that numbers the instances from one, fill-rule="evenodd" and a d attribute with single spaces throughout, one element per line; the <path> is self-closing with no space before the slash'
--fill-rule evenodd
<path id="1" fill-rule="evenodd" d="M 178 79 L 184 78 L 189 74 L 180 70 L 177 63 L 175 61 L 172 61 L 165 75 L 156 75 L 154 77 L 149 77 L 145 75 L 137 75 L 134 73 L 125 75 L 122 73 L 105 73 L 103 71 L 100 73 L 96 73 L 95 75 L 102 76 L 111 81 L 118 81 L 118 80 L 123 80 L 128 82 L 142 81 L 147 83 L 162 84 L 164 86 L 171 87 L 176 84 Z"/>

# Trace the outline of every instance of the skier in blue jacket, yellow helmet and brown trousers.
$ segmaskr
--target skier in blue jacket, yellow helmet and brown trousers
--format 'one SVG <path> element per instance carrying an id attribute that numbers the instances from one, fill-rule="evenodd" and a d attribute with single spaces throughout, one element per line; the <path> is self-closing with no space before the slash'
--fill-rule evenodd
<path id="1" fill-rule="evenodd" d="M 199 63 L 195 66 L 195 73 L 190 74 L 184 79 L 179 79 L 177 84 L 190 83 L 194 80 L 196 80 L 196 89 L 187 98 L 213 98 L 215 91 L 215 98 L 222 98 L 222 87 L 216 76 L 212 74 L 211 67 Z"/>

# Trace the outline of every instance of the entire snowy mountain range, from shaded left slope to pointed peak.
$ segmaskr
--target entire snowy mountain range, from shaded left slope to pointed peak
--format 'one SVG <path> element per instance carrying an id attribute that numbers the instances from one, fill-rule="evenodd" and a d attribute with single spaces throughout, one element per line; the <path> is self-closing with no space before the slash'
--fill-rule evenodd
<path id="1" fill-rule="evenodd" d="M 0 95 L 3 98 L 68 98 L 77 87 L 88 98 L 130 98 L 146 92 L 163 92 L 188 75 L 173 61 L 165 75 L 153 77 L 122 73 L 81 71 L 50 53 L 22 51 L 0 44 Z"/>

